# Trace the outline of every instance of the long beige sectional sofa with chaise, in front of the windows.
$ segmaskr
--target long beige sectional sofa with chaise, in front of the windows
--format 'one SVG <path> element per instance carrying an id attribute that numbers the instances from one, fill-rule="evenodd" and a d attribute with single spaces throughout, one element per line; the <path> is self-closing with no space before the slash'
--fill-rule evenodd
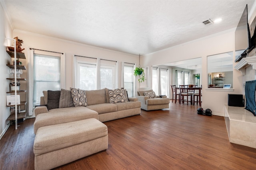
<path id="1" fill-rule="evenodd" d="M 50 109 L 46 106 L 39 106 L 35 109 L 36 120 L 34 122 L 34 133 L 40 127 L 56 125 L 61 123 L 68 123 L 73 121 L 79 121 L 83 119 L 95 118 L 101 122 L 110 121 L 114 119 L 120 119 L 133 115 L 140 114 L 141 103 L 138 98 L 126 97 L 128 102 L 110 103 L 110 97 L 108 94 L 109 89 L 90 90 L 85 91 L 87 106 L 79 107 L 64 107 Z M 68 93 L 68 90 L 62 89 Z M 61 92 L 62 92 L 61 91 Z M 40 105 L 47 105 L 48 96 L 47 91 L 44 91 L 44 96 L 40 98 Z M 125 91 L 126 93 L 126 91 Z M 60 102 L 67 102 L 68 99 L 60 99 Z"/>

